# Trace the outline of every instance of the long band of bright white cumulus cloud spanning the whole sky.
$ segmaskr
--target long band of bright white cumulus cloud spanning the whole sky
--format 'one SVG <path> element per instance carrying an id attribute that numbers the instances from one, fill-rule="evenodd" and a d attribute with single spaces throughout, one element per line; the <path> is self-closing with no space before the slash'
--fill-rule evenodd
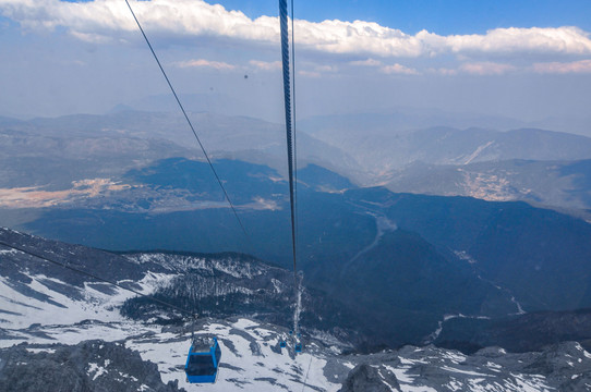
<path id="1" fill-rule="evenodd" d="M 257 42 L 278 42 L 275 16 L 252 20 L 203 0 L 130 0 L 148 34 L 168 37 L 225 37 Z M 58 0 L 0 0 L 2 15 L 25 28 L 65 27 L 73 36 L 100 42 L 117 34 L 136 30 L 124 1 L 95 0 L 70 3 Z M 382 58 L 471 54 L 590 54 L 589 34 L 577 27 L 496 28 L 484 35 L 439 36 L 426 30 L 408 35 L 377 23 L 338 20 L 319 23 L 296 21 L 296 40 L 302 48 L 322 52 L 366 54 Z M 365 65 L 378 66 L 367 59 Z M 363 65 L 359 62 L 357 65 Z"/>

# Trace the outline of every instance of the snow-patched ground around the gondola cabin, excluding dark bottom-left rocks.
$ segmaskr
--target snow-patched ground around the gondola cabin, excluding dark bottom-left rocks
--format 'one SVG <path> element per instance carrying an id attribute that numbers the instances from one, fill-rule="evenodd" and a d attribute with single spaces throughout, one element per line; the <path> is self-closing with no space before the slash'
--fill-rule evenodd
<path id="1" fill-rule="evenodd" d="M 157 364 L 162 381 L 178 380 L 186 391 L 338 391 L 351 369 L 369 364 L 381 381 L 403 392 L 437 391 L 557 391 L 550 378 L 536 373 L 535 364 L 552 358 L 565 380 L 584 378 L 591 369 L 591 354 L 577 343 L 556 352 L 507 354 L 503 350 L 472 356 L 459 352 L 406 346 L 397 352 L 373 355 L 340 355 L 317 341 L 304 339 L 304 352 L 279 348 L 286 331 L 246 318 L 202 320 L 198 334 L 215 334 L 221 345 L 221 365 L 213 385 L 189 384 L 183 366 L 190 345 L 189 328 L 142 324 L 135 321 L 87 321 L 73 326 L 33 326 L 3 330 L 0 345 L 76 344 L 85 340 L 120 341 L 137 351 L 144 360 Z M 39 350 L 32 347 L 32 350 Z M 51 350 L 44 348 L 44 350 Z M 533 364 L 533 365 L 532 365 Z M 91 378 L 107 371 L 107 365 L 89 365 Z M 547 365 L 544 365 L 547 366 Z M 555 377 L 555 375 L 553 375 Z M 591 383 L 582 383 L 591 388 Z M 575 389 L 576 390 L 576 389 Z"/>

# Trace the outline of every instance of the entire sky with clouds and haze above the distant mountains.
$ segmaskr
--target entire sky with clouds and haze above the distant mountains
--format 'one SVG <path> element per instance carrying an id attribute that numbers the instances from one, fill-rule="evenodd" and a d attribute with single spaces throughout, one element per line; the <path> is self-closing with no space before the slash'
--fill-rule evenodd
<path id="1" fill-rule="evenodd" d="M 179 91 L 281 118 L 276 0 L 130 2 Z M 590 118 L 590 1 L 294 7 L 302 118 L 400 107 Z M 123 0 L 0 0 L 0 115 L 101 113 L 168 93 Z"/>

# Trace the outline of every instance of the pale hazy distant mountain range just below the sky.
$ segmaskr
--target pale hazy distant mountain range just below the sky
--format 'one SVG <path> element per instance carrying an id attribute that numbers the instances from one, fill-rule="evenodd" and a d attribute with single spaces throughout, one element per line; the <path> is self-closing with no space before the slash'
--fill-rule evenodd
<path id="1" fill-rule="evenodd" d="M 265 164 L 285 175 L 279 124 L 208 112 L 190 115 L 213 158 Z M 401 130 L 388 117 L 379 119 L 302 121 L 297 142 L 300 166 L 313 163 L 354 184 L 395 192 L 524 200 L 586 218 L 584 210 L 591 209 L 584 169 L 591 159 L 588 137 L 536 128 Z M 72 181 L 120 175 L 156 159 L 203 159 L 186 123 L 170 112 L 4 118 L 0 134 L 0 181 L 7 188 L 63 188 Z"/>

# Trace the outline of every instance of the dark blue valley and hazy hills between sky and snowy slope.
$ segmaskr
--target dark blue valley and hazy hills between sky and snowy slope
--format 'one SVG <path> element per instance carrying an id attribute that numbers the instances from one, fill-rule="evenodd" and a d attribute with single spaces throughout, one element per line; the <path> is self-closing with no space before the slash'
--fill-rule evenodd
<path id="1" fill-rule="evenodd" d="M 14 222 L 13 229 L 107 250 L 231 252 L 289 268 L 287 181 L 285 168 L 277 167 L 273 158 L 280 154 L 279 142 L 273 142 L 279 136 L 273 136 L 278 128 L 261 120 L 220 114 L 198 113 L 196 119 L 203 121 L 205 140 L 214 148 L 226 148 L 214 155 L 214 163 L 248 229 L 248 238 L 207 163 L 186 143 L 185 147 L 176 144 L 182 142 L 176 132 L 161 131 L 180 126 L 169 113 L 121 111 L 104 117 L 5 122 L 4 159 L 17 163 L 26 158 L 28 163 L 4 167 L 0 218 Z M 234 136 L 238 128 L 251 128 L 249 140 L 256 137 L 268 144 L 257 142 L 249 147 L 243 136 Z M 521 160 L 482 160 L 484 151 L 506 150 L 503 145 L 516 144 L 526 135 L 538 139 L 530 155 L 519 155 L 515 149 L 512 155 L 498 156 Z M 587 142 L 582 136 L 535 130 L 502 134 L 438 127 L 405 137 L 405 143 L 413 144 L 418 151 L 421 145 L 426 146 L 420 152 L 423 157 L 431 155 L 429 148 L 434 151 L 435 144 L 451 143 L 454 151 L 441 149 L 443 155 L 433 160 L 435 166 L 425 168 L 433 172 L 433 179 L 456 184 L 456 188 L 441 188 L 445 196 L 437 196 L 437 192 L 427 192 L 434 189 L 431 182 L 419 188 L 424 194 L 394 193 L 389 188 L 400 184 L 396 181 L 386 186 L 359 186 L 359 182 L 339 174 L 347 171 L 346 157 L 353 157 L 345 151 L 331 152 L 342 146 L 328 148 L 304 138 L 304 144 L 325 152 L 316 159 L 316 150 L 306 147 L 309 155 L 301 157 L 298 172 L 299 265 L 309 291 L 315 293 L 305 299 L 315 310 L 304 313 L 304 319 L 328 329 L 338 326 L 362 351 L 432 342 L 430 336 L 439 328 L 443 332 L 437 339 L 447 346 L 478 347 L 484 346 L 484 341 L 475 338 L 478 331 L 489 327 L 478 324 L 474 330 L 471 320 L 591 308 L 591 275 L 587 272 L 591 226 L 587 222 L 576 213 L 555 211 L 560 210 L 559 203 L 552 210 L 521 201 L 450 197 L 447 194 L 455 194 L 454 189 L 462 185 L 446 174 L 480 179 L 471 185 L 474 192 L 481 192 L 475 196 L 504 200 L 505 196 L 510 198 L 518 181 L 538 181 L 538 185 L 526 184 L 530 189 L 544 184 L 539 179 L 552 168 L 564 179 L 576 179 L 581 187 L 580 193 L 572 193 L 569 182 L 557 182 L 558 176 L 552 174 L 548 186 L 562 184 L 555 187 L 557 195 L 583 195 L 584 160 L 523 160 L 562 158 L 575 145 L 583 158 Z M 480 148 L 484 145 L 486 148 Z M 540 148 L 543 145 L 562 147 L 544 150 Z M 458 154 L 469 157 L 461 170 L 451 166 L 450 157 Z M 345 158 L 339 161 L 337 157 Z M 415 161 L 411 167 L 422 164 Z M 333 171 L 326 166 L 340 169 Z M 515 174 L 520 168 L 534 169 L 530 172 L 534 176 Z M 358 167 L 358 173 L 367 170 L 361 169 Z M 421 170 L 412 169 L 403 175 L 420 182 Z M 492 171 L 490 175 L 496 179 L 490 185 L 478 174 L 485 171 Z M 60 176 L 55 177 L 56 172 Z M 496 188 L 493 183 L 507 173 L 514 174 Z M 409 184 L 400 188 L 413 186 Z M 496 197 L 495 192 L 506 195 Z M 533 191 L 527 194 L 531 196 Z M 584 215 L 584 210 L 578 211 Z M 169 295 L 166 290 L 161 293 Z M 172 301 L 196 301 L 188 295 L 177 291 Z M 314 299 L 316 296 L 323 299 Z M 234 302 L 210 316 L 230 317 L 241 307 L 263 306 L 263 313 L 287 317 L 287 308 L 281 310 L 281 302 L 275 301 L 267 304 L 275 304 L 270 308 L 265 308 L 261 298 L 250 305 Z"/>

